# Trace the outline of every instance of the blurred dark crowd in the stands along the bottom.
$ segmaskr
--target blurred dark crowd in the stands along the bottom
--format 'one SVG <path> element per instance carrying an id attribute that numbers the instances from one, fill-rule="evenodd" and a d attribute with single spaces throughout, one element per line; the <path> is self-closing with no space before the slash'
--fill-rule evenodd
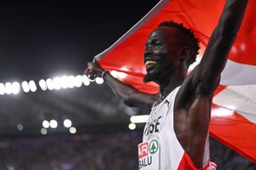
<path id="1" fill-rule="evenodd" d="M 138 132 L 0 140 L 0 170 L 136 170 Z M 256 170 L 252 161 L 211 139 L 219 170 Z"/>

